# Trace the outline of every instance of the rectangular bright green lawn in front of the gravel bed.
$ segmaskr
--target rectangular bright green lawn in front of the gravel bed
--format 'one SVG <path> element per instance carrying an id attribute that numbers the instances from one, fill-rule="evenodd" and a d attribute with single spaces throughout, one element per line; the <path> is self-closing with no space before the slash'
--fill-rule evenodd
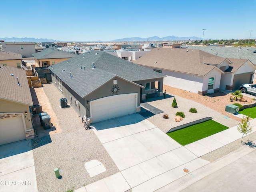
<path id="1" fill-rule="evenodd" d="M 167 133 L 167 135 L 176 140 L 179 144 L 186 145 L 221 132 L 225 129 L 228 129 L 228 127 L 219 124 L 214 120 L 208 120 L 206 122 Z"/>

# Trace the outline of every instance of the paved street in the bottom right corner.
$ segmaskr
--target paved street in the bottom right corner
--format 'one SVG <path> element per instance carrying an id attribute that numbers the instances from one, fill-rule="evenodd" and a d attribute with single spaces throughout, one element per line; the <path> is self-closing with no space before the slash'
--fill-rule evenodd
<path id="1" fill-rule="evenodd" d="M 256 191 L 256 150 L 190 185 L 182 192 Z"/>

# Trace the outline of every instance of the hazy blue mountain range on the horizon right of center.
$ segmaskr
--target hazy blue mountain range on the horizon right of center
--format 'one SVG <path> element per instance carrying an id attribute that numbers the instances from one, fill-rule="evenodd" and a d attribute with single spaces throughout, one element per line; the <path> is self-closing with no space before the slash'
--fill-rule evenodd
<path id="1" fill-rule="evenodd" d="M 202 40 L 200 37 L 176 37 L 176 36 L 167 36 L 160 38 L 158 36 L 148 37 L 148 38 L 140 38 L 140 37 L 130 37 L 130 38 L 123 38 L 123 39 L 115 39 L 110 42 L 120 42 L 120 41 L 176 41 L 176 40 Z"/>

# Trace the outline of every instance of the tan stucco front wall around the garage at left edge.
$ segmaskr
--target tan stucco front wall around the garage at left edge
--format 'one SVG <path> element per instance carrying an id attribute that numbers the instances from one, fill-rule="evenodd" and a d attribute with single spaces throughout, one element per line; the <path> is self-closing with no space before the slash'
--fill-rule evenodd
<path id="1" fill-rule="evenodd" d="M 25 123 L 26 123 L 25 131 L 32 129 L 32 122 L 31 122 L 30 111 L 29 111 L 28 105 L 0 99 L 0 106 L 1 106 L 0 113 L 22 112 L 24 114 L 24 119 L 25 119 Z M 25 112 L 28 112 L 28 114 L 26 115 Z M 26 118 L 25 118 L 25 116 L 26 116 Z"/>

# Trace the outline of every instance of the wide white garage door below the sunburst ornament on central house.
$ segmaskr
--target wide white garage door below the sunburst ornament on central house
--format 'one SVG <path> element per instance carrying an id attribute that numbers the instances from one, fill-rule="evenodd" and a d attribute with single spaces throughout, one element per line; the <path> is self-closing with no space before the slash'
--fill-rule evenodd
<path id="1" fill-rule="evenodd" d="M 90 102 L 92 122 L 136 113 L 137 94 L 121 94 Z"/>

